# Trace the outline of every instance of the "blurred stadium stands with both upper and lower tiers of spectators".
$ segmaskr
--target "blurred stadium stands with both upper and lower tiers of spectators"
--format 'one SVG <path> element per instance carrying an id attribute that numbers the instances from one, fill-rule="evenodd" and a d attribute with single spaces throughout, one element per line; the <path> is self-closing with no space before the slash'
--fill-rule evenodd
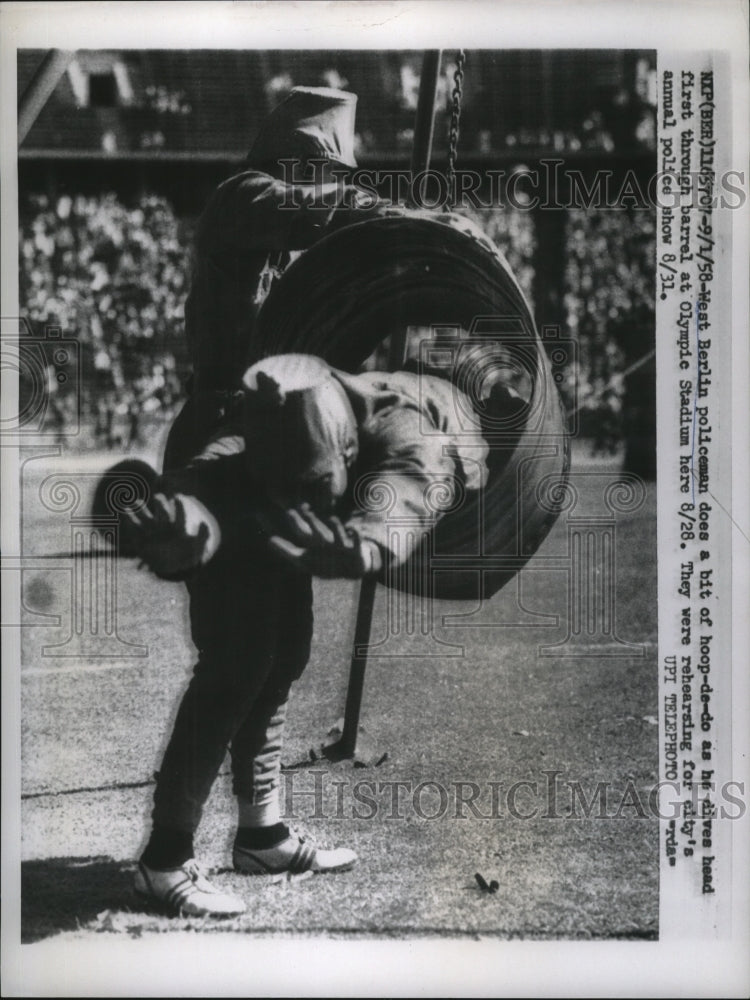
<path id="1" fill-rule="evenodd" d="M 19 54 L 19 92 L 43 55 Z M 158 55 L 78 53 L 20 151 L 22 313 L 35 334 L 59 327 L 78 342 L 80 384 L 52 380 L 49 408 L 60 427 L 80 408 L 78 447 L 135 449 L 174 416 L 188 375 L 183 315 L 196 220 L 291 86 L 359 93 L 360 164 L 408 166 L 419 53 L 174 52 L 161 63 Z M 248 97 L 255 81 L 257 100 L 235 98 L 221 122 L 217 79 L 226 97 L 228 60 L 235 76 L 245 73 Z M 438 169 L 454 70 L 444 59 Z M 470 52 L 459 166 L 527 170 L 558 156 L 588 178 L 603 169 L 646 177 L 653 71 L 649 53 Z M 630 464 L 648 473 L 655 381 L 653 362 L 642 359 L 654 342 L 654 212 L 459 211 L 500 246 L 539 322 L 577 342 L 561 390 L 579 434 L 610 450 L 630 437 L 631 450 L 644 453 Z"/>

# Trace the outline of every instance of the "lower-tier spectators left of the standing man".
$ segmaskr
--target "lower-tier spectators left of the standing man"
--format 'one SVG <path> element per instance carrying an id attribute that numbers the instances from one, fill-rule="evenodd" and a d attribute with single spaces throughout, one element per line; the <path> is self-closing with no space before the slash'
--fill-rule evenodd
<path id="1" fill-rule="evenodd" d="M 33 335 L 78 342 L 79 371 L 49 412 L 77 408 L 101 446 L 133 447 L 179 403 L 189 227 L 163 198 L 31 197 L 21 207 L 20 303 Z"/>

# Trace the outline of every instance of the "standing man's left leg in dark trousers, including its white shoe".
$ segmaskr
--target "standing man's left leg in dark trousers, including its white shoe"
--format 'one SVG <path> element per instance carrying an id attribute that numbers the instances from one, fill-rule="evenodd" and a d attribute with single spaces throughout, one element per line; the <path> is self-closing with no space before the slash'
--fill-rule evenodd
<path id="1" fill-rule="evenodd" d="M 255 719 L 265 737 L 265 711 L 256 702 L 278 662 L 288 572 L 263 557 L 250 567 L 217 557 L 189 585 L 199 658 L 157 776 L 151 836 L 136 875 L 136 891 L 173 911 L 219 915 L 244 909 L 241 900 L 195 875 L 193 835 L 237 733 Z"/>

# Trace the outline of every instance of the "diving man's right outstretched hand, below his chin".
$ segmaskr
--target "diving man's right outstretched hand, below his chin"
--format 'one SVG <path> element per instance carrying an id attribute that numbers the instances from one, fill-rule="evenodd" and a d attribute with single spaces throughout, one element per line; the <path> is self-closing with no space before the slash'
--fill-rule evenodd
<path id="1" fill-rule="evenodd" d="M 357 580 L 382 568 L 379 547 L 345 528 L 337 517 L 319 518 L 303 504 L 286 511 L 284 522 L 291 538 L 274 534 L 269 545 L 302 572 Z"/>

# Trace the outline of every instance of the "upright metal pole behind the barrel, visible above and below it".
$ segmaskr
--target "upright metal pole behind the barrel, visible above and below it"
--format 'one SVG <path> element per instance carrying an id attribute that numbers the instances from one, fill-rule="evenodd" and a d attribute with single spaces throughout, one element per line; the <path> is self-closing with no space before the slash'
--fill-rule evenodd
<path id="1" fill-rule="evenodd" d="M 412 200 L 414 195 L 414 178 L 429 169 L 432 157 L 432 137 L 435 126 L 435 97 L 437 95 L 438 77 L 440 74 L 439 49 L 425 52 L 422 59 L 422 76 L 419 81 L 419 98 L 417 101 L 417 117 L 414 123 L 414 149 L 411 157 Z M 388 369 L 397 371 L 406 360 L 407 330 L 404 327 L 394 330 L 388 351 Z M 373 577 L 365 577 L 359 590 L 359 605 L 357 607 L 357 622 L 354 627 L 354 648 L 349 667 L 349 686 L 346 692 L 346 707 L 344 709 L 344 726 L 341 739 L 335 745 L 333 754 L 329 756 L 354 757 L 357 752 L 357 737 L 359 736 L 359 716 L 362 709 L 362 693 L 365 686 L 365 669 L 367 667 L 367 645 L 372 630 L 372 614 L 375 607 L 375 592 L 377 581 Z"/>

